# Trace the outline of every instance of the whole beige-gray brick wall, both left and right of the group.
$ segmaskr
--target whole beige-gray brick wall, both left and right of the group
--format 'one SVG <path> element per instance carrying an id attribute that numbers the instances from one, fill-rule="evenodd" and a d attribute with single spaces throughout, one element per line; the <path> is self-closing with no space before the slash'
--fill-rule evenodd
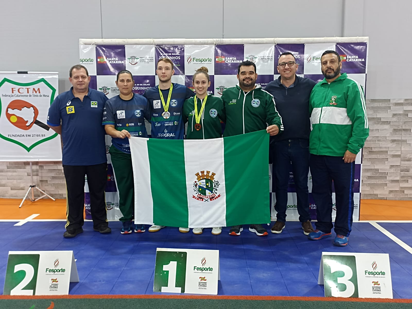
<path id="1" fill-rule="evenodd" d="M 370 137 L 363 148 L 361 197 L 410 200 L 412 99 L 366 100 L 366 105 Z M 52 197 L 66 197 L 61 163 L 34 162 L 33 180 Z M 29 185 L 29 163 L 0 162 L 0 197 L 23 198 Z"/>

